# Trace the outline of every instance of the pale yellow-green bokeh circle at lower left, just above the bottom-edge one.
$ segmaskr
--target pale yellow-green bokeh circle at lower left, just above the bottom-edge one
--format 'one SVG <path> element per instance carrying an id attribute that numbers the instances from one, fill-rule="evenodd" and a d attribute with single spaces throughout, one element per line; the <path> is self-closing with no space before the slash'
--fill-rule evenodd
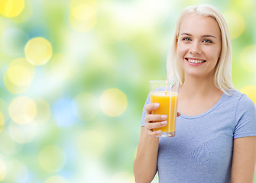
<path id="1" fill-rule="evenodd" d="M 58 172 L 66 162 L 66 155 L 59 146 L 45 146 L 38 156 L 41 168 L 46 172 Z"/>

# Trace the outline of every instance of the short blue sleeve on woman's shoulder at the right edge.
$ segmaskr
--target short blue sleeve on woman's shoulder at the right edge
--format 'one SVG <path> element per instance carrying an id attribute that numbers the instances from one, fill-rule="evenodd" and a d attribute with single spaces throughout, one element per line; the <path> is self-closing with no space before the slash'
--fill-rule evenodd
<path id="1" fill-rule="evenodd" d="M 241 95 L 236 107 L 234 139 L 256 136 L 256 108 L 247 95 Z"/>

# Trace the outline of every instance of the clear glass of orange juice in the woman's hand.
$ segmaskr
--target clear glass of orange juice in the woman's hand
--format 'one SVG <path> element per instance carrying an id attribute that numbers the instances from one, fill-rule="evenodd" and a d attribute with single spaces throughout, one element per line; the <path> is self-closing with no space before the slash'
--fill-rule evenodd
<path id="1" fill-rule="evenodd" d="M 167 125 L 156 128 L 161 130 L 160 136 L 174 136 L 177 117 L 177 101 L 179 82 L 170 80 L 150 81 L 151 103 L 158 103 L 159 108 L 152 111 L 152 114 L 167 115 Z"/>

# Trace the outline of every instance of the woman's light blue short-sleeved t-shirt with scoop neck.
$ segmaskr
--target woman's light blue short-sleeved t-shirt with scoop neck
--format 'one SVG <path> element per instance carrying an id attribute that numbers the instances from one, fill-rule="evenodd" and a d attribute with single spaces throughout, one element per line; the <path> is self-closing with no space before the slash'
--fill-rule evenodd
<path id="1" fill-rule="evenodd" d="M 160 183 L 229 183 L 233 140 L 256 136 L 256 109 L 247 95 L 223 93 L 208 111 L 177 117 L 176 134 L 160 137 Z M 146 104 L 150 103 L 147 97 Z M 144 126 L 145 110 L 141 117 Z"/>

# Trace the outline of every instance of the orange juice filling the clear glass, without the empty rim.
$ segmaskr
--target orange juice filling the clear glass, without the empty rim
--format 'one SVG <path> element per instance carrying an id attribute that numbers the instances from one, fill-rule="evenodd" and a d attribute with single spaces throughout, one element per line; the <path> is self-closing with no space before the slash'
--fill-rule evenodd
<path id="1" fill-rule="evenodd" d="M 167 115 L 167 125 L 156 128 L 154 131 L 161 130 L 162 133 L 175 133 L 177 117 L 178 94 L 175 92 L 151 92 L 151 103 L 159 103 L 159 108 L 152 111 L 152 114 Z"/>

